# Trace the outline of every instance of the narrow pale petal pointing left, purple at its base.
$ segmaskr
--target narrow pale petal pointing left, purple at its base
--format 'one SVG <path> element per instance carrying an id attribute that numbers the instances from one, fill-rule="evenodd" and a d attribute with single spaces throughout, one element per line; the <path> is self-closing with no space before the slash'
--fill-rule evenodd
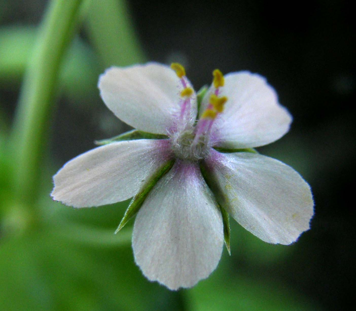
<path id="1" fill-rule="evenodd" d="M 51 196 L 73 207 L 123 201 L 169 159 L 168 140 L 119 141 L 85 152 L 53 176 Z"/>

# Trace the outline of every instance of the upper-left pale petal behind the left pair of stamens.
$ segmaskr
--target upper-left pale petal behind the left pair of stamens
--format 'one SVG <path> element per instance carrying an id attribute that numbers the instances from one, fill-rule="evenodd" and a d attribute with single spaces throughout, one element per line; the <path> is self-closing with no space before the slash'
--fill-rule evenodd
<path id="1" fill-rule="evenodd" d="M 179 85 L 176 73 L 158 63 L 111 67 L 98 83 L 101 98 L 119 119 L 136 129 L 156 134 L 167 134 L 176 121 L 182 90 Z M 195 101 L 192 106 L 195 118 Z"/>

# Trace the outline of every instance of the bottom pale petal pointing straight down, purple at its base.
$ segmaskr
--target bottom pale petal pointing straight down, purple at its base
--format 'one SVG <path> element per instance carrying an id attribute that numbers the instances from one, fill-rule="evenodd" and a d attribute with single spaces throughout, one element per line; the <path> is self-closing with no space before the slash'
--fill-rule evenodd
<path id="1" fill-rule="evenodd" d="M 177 290 L 216 268 L 223 238 L 221 213 L 198 166 L 177 161 L 138 212 L 132 248 L 149 280 Z"/>

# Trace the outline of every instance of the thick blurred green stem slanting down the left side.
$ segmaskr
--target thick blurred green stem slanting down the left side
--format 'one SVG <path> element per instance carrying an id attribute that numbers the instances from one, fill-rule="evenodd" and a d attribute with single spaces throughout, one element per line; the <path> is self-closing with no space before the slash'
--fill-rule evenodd
<path id="1" fill-rule="evenodd" d="M 83 0 L 53 0 L 23 81 L 12 128 L 16 197 L 34 210 L 63 55 L 80 20 Z"/>

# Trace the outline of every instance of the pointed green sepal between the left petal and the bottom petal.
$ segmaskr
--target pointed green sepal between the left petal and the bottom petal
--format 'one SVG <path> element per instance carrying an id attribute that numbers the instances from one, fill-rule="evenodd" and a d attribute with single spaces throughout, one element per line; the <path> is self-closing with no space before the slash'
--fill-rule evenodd
<path id="1" fill-rule="evenodd" d="M 143 201 L 145 201 L 148 193 L 151 191 L 153 186 L 156 185 L 158 180 L 166 174 L 171 167 L 174 164 L 174 159 L 169 160 L 166 162 L 166 164 L 162 165 L 152 176 L 151 178 L 146 182 L 146 184 L 141 188 L 141 190 L 135 195 L 131 202 L 129 207 L 127 207 L 126 212 L 124 214 L 124 217 L 122 217 L 121 222 L 119 224 L 119 227 L 117 227 L 115 234 L 119 232 L 125 224 L 133 217 L 135 214 L 139 211 L 141 208 Z"/>

